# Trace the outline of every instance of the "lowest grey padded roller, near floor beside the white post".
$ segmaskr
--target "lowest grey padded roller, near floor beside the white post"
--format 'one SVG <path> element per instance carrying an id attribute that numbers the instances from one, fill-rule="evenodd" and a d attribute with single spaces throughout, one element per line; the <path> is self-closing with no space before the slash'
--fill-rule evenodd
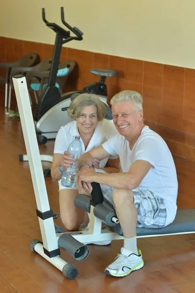
<path id="1" fill-rule="evenodd" d="M 70 233 L 60 236 L 58 245 L 78 261 L 85 260 L 89 255 L 87 246 L 76 240 Z"/>

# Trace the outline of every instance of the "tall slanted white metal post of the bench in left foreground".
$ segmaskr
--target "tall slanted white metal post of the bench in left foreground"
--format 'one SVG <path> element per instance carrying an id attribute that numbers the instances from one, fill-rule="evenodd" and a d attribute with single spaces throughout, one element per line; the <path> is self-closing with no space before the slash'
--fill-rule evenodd
<path id="1" fill-rule="evenodd" d="M 43 177 L 43 168 L 39 153 L 39 146 L 35 132 L 26 79 L 24 76 L 18 75 L 13 77 L 13 83 L 20 113 L 23 137 L 27 150 L 37 208 L 39 211 L 44 213 L 45 211 L 49 211 L 50 207 Z M 44 248 L 47 251 L 57 250 L 58 241 L 55 233 L 53 217 L 49 217 L 46 220 L 42 220 L 41 218 L 39 218 L 39 222 Z"/>

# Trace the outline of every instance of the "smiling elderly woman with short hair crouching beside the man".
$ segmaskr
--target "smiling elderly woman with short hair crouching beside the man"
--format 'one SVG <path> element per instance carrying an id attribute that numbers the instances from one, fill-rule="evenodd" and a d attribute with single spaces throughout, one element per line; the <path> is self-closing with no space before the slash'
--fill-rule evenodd
<path id="1" fill-rule="evenodd" d="M 68 116 L 74 121 L 62 126 L 58 131 L 51 176 L 59 181 L 61 219 L 66 229 L 78 230 L 84 222 L 85 211 L 77 209 L 74 198 L 78 194 L 77 187 L 66 188 L 61 185 L 62 171 L 71 164 L 68 146 L 80 135 L 82 154 L 96 146 L 101 146 L 111 136 L 118 133 L 114 124 L 105 119 L 104 103 L 94 94 L 81 94 L 75 98 L 67 109 Z M 119 159 L 110 156 L 102 160 L 93 160 L 94 170 L 107 173 L 119 172 Z"/>

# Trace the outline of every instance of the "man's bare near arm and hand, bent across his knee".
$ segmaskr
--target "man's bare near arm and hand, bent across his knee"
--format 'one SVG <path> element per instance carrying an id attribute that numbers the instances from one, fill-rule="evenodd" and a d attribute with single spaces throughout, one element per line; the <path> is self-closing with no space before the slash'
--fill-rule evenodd
<path id="1" fill-rule="evenodd" d="M 97 182 L 113 188 L 131 190 L 137 188 L 152 165 L 144 160 L 137 160 L 126 173 L 101 174 L 94 173 L 88 167 L 84 167 L 78 176 L 78 185 L 87 192 L 91 192 L 88 183 Z"/>

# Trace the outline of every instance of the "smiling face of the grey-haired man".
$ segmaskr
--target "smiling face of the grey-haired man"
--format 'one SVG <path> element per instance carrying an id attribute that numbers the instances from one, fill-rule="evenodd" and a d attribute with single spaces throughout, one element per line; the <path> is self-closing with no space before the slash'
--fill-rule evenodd
<path id="1" fill-rule="evenodd" d="M 136 111 L 131 101 L 115 103 L 112 105 L 112 117 L 116 129 L 125 137 L 136 134 L 143 119 L 143 111 Z"/>

